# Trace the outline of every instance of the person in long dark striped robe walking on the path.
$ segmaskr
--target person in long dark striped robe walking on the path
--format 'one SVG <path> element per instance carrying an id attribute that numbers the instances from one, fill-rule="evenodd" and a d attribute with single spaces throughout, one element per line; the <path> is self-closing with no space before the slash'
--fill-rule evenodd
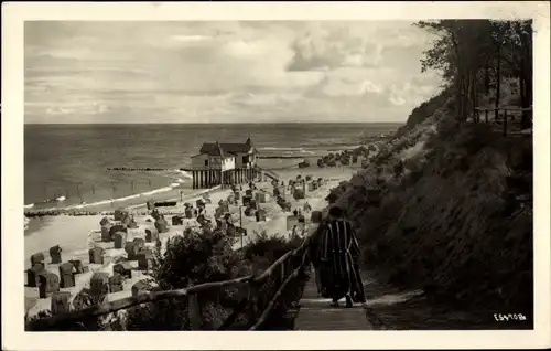
<path id="1" fill-rule="evenodd" d="M 352 224 L 343 219 L 343 210 L 331 208 L 329 217 L 320 230 L 313 253 L 316 278 L 320 280 L 318 292 L 331 298 L 333 306 L 338 306 L 343 297 L 346 298 L 346 307 L 352 307 L 353 301 L 365 302 L 357 263 L 359 246 Z"/>

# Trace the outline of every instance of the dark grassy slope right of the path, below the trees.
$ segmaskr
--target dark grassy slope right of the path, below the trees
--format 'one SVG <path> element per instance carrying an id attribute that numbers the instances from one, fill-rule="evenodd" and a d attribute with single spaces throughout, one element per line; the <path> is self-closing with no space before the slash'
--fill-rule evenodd
<path id="1" fill-rule="evenodd" d="M 531 315 L 531 139 L 458 126 L 450 106 L 398 134 L 335 193 L 358 227 L 365 264 L 388 281 L 473 312 Z M 377 168 L 379 205 L 368 192 Z"/>

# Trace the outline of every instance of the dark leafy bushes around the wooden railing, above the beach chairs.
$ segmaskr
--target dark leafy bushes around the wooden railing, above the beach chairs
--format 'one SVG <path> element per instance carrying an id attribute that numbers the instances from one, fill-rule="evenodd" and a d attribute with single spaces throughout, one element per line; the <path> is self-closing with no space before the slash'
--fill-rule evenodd
<path id="1" fill-rule="evenodd" d="M 302 244 L 298 237 L 285 240 L 257 233 L 253 242 L 241 251 L 234 251 L 235 240 L 226 234 L 209 227 L 187 228 L 184 235 L 169 240 L 164 251 L 158 245 L 154 253 L 151 289 L 174 290 L 204 283 L 259 275 L 282 255 Z M 289 320 L 285 318 L 287 306 L 299 298 L 298 292 L 302 289 L 306 278 L 307 276 L 300 276 L 284 291 L 281 302 L 274 306 L 264 328 L 289 328 Z M 201 329 L 216 330 L 223 326 L 224 329 L 229 330 L 248 329 L 267 308 L 271 297 L 279 289 L 280 280 L 281 275 L 268 278 L 262 286 L 258 287 L 259 290 L 253 301 L 249 296 L 249 286 L 245 283 L 198 294 L 203 317 Z M 101 299 L 78 298 L 76 300 L 78 304 L 74 304 L 74 309 L 101 302 Z M 234 310 L 242 307 L 244 301 L 252 304 L 234 316 L 235 320 L 230 326 L 225 326 L 225 321 Z M 142 304 L 117 313 L 91 318 L 89 321 L 63 323 L 56 326 L 56 330 L 190 330 L 187 304 L 187 298 Z M 42 313 L 33 320 L 48 316 L 48 313 Z M 31 329 L 28 325 L 28 330 Z"/>

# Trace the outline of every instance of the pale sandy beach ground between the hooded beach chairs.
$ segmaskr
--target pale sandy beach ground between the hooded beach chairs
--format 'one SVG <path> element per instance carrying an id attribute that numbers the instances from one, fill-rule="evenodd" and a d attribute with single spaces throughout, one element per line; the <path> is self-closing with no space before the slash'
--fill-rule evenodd
<path id="1" fill-rule="evenodd" d="M 315 162 L 309 168 L 287 168 L 276 170 L 274 172 L 280 177 L 280 181 L 285 184 L 289 180 L 296 179 L 300 174 L 303 178 L 311 176 L 312 179 L 323 178 L 325 180 L 324 184 L 314 190 L 306 191 L 305 199 L 294 200 L 289 192 L 287 192 L 285 199 L 291 202 L 292 210 L 302 209 L 304 203 L 307 202 L 313 210 L 322 210 L 326 206 L 325 196 L 328 191 L 336 187 L 341 181 L 348 180 L 350 177 L 359 169 L 360 162 L 349 166 L 349 167 L 336 167 L 336 168 L 318 168 Z M 270 179 L 268 179 L 270 181 Z M 272 184 L 267 182 L 257 182 L 257 191 L 263 191 L 268 193 L 267 202 L 260 203 L 259 208 L 266 211 L 266 221 L 257 222 L 256 217 L 246 216 L 241 213 L 240 208 L 237 205 L 230 205 L 229 212 L 234 223 L 238 224 L 242 221 L 242 227 L 247 230 L 248 235 L 242 237 L 242 245 L 255 240 L 258 233 L 264 232 L 267 235 L 290 235 L 291 233 L 287 230 L 287 217 L 292 215 L 292 213 L 283 212 L 283 210 L 276 203 L 276 199 L 271 196 Z M 248 189 L 248 185 L 242 184 L 244 190 Z M 195 200 L 202 198 L 203 192 L 209 192 L 212 203 L 206 205 L 206 215 L 210 217 L 214 222 L 214 213 L 218 206 L 219 200 L 226 200 L 231 190 L 229 189 L 213 189 L 213 190 L 194 190 L 191 193 L 180 198 L 180 190 L 174 189 L 168 192 L 154 194 L 154 198 L 148 198 L 148 200 L 175 200 L 177 201 L 176 206 L 166 208 L 166 211 L 171 212 L 184 212 L 183 203 L 190 202 L 195 204 Z M 110 205 L 87 208 L 89 211 L 112 211 L 118 208 L 127 209 L 130 213 L 142 212 L 147 210 L 145 201 L 143 198 L 136 198 L 123 203 L 118 204 L 115 208 Z M 183 200 L 183 201 L 181 201 Z M 242 211 L 242 208 L 241 208 Z M 172 216 L 166 215 L 166 221 L 169 224 L 172 223 Z M 306 222 L 310 220 L 310 213 L 305 213 Z M 63 249 L 62 260 L 68 262 L 69 259 L 79 259 L 84 266 L 88 266 L 89 272 L 75 275 L 75 286 L 71 288 L 61 288 L 61 291 L 69 291 L 72 299 L 78 294 L 83 288 L 89 288 L 89 280 L 94 272 L 105 272 L 109 276 L 112 276 L 114 265 L 116 260 L 126 259 L 127 253 L 125 249 L 115 249 L 114 242 L 104 243 L 101 242 L 100 224 L 101 215 L 88 215 L 88 216 L 71 216 L 71 215 L 58 215 L 42 219 L 32 219 L 29 223 L 29 227 L 34 231 L 26 233 L 24 237 L 25 247 L 25 269 L 31 267 L 30 256 L 42 252 L 45 256 L 46 269 L 54 274 L 58 274 L 58 265 L 50 264 L 51 257 L 48 249 L 52 246 L 60 245 Z M 138 224 L 138 228 L 129 228 L 127 234 L 127 242 L 132 241 L 134 237 L 145 237 L 145 230 L 149 227 L 154 227 L 154 220 L 149 215 L 134 215 L 134 220 Z M 41 222 L 39 225 L 36 221 Z M 197 226 L 195 219 L 184 220 L 182 225 L 170 225 L 168 233 L 160 234 L 160 240 L 163 244 L 174 235 L 183 235 L 184 230 L 187 226 Z M 104 252 L 104 265 L 89 264 L 88 249 L 94 246 L 100 246 L 105 249 Z M 153 247 L 154 243 L 145 243 L 145 246 Z M 235 244 L 235 249 L 241 247 L 241 241 L 237 240 Z M 131 287 L 139 280 L 147 277 L 147 273 L 137 269 L 138 262 L 131 260 L 130 264 L 136 267 L 132 270 L 132 277 L 126 279 L 123 283 L 123 291 L 114 292 L 108 295 L 108 300 L 120 299 L 123 297 L 131 296 Z M 29 316 L 35 316 L 40 311 L 50 310 L 51 298 L 39 298 L 39 289 L 26 286 L 26 274 L 25 274 L 25 311 Z"/>

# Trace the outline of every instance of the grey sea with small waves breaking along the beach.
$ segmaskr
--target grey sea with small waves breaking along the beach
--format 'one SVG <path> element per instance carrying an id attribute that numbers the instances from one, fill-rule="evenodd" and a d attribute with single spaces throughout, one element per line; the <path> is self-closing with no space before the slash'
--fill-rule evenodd
<path id="1" fill-rule="evenodd" d="M 25 209 L 93 204 L 175 184 L 191 188 L 191 164 L 203 142 L 245 142 L 259 156 L 312 158 L 353 149 L 400 124 L 123 124 L 25 125 Z M 260 160 L 269 167 L 272 160 Z M 112 168 L 163 169 L 116 171 Z"/>

